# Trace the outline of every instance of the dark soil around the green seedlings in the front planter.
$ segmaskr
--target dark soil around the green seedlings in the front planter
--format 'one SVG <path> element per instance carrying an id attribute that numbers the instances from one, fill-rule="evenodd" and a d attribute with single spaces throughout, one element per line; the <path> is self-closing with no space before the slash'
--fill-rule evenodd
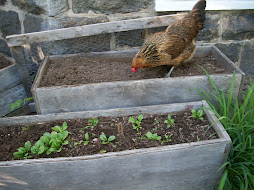
<path id="1" fill-rule="evenodd" d="M 209 121 L 206 117 L 204 120 L 191 117 L 191 112 L 180 112 L 171 114 L 175 119 L 175 126 L 167 127 L 164 123 L 168 119 L 167 114 L 149 115 L 144 114 L 141 123 L 142 129 L 138 132 L 133 129 L 132 123 L 129 121 L 129 116 L 125 117 L 98 117 L 98 124 L 95 127 L 91 126 L 88 119 L 73 119 L 66 120 L 68 125 L 69 136 L 67 140 L 69 144 L 65 145 L 61 152 L 53 152 L 50 155 L 42 154 L 40 157 L 72 157 L 98 154 L 102 152 L 117 152 L 122 150 L 132 150 L 148 147 L 162 146 L 165 141 L 165 135 L 171 136 L 170 142 L 164 142 L 163 145 L 180 144 L 187 142 L 196 142 L 201 140 L 215 139 L 212 128 L 209 128 Z M 135 119 L 138 115 L 132 116 Z M 45 132 L 52 132 L 52 127 L 55 125 L 62 126 L 63 120 L 40 123 L 29 126 L 11 126 L 0 128 L 0 160 L 13 160 L 13 153 L 17 148 L 23 147 L 26 141 L 30 141 L 32 145 L 40 139 Z M 209 128 L 209 130 L 207 130 Z M 161 140 L 147 140 L 146 133 L 157 133 L 161 136 Z M 89 134 L 89 144 L 80 143 L 85 141 L 85 133 Z M 100 135 L 105 134 L 107 137 L 114 135 L 115 140 L 109 144 L 102 144 Z M 33 158 L 39 156 L 32 155 Z"/>

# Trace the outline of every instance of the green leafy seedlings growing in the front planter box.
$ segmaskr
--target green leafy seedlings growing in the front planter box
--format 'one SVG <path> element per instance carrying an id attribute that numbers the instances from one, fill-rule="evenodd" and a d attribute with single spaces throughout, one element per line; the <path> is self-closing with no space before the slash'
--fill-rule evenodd
<path id="1" fill-rule="evenodd" d="M 204 112 L 203 110 L 192 110 L 192 117 L 193 118 L 198 118 L 198 119 L 203 119 Z M 141 123 L 143 120 L 143 115 L 140 114 L 137 118 L 137 120 L 133 117 L 129 117 L 129 121 L 132 123 L 132 127 L 134 130 L 137 131 L 138 135 L 141 135 L 140 129 L 142 129 Z M 96 127 L 98 124 L 99 120 L 97 118 L 88 119 L 88 125 L 84 127 L 83 129 L 80 130 L 80 132 L 84 131 L 85 129 L 88 128 L 93 128 Z M 156 123 L 158 121 L 155 120 Z M 168 115 L 168 119 L 164 121 L 166 124 L 167 128 L 170 128 L 171 126 L 175 126 L 175 120 L 172 119 L 171 115 Z M 40 139 L 32 146 L 30 141 L 27 141 L 24 145 L 24 147 L 19 147 L 17 149 L 17 152 L 13 154 L 13 156 L 16 159 L 29 159 L 32 158 L 32 155 L 41 155 L 46 153 L 47 155 L 51 154 L 52 152 L 61 152 L 62 147 L 64 145 L 67 145 L 69 141 L 67 140 L 67 137 L 69 135 L 69 132 L 67 131 L 67 123 L 64 122 L 62 127 L 60 126 L 54 126 L 52 127 L 52 132 L 51 133 L 44 133 L 43 136 L 40 137 Z M 22 130 L 29 130 L 29 127 L 25 127 Z M 156 130 L 156 128 L 154 128 Z M 165 134 L 164 135 L 164 140 L 162 140 L 162 137 L 159 136 L 157 133 L 152 133 L 148 131 L 145 134 L 145 137 L 141 136 L 140 139 L 142 140 L 151 140 L 151 141 L 161 141 L 161 144 L 168 143 L 171 141 L 171 137 L 173 134 Z M 112 143 L 115 140 L 115 136 L 111 135 L 107 137 L 104 133 L 100 135 L 100 140 L 101 143 L 106 145 L 106 144 L 111 144 L 113 147 L 115 145 Z M 80 140 L 78 142 L 74 142 L 74 147 L 77 145 L 82 144 L 84 146 L 88 145 L 90 143 L 90 136 L 89 133 L 85 133 L 85 140 Z M 103 152 L 103 151 L 102 151 Z"/>

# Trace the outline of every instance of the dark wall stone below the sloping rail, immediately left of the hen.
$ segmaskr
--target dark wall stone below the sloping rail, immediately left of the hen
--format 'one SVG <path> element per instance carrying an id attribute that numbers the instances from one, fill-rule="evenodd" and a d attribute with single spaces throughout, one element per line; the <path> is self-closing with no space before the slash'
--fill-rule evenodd
<path id="1" fill-rule="evenodd" d="M 115 33 L 115 43 L 117 48 L 142 46 L 145 39 L 145 30 L 131 30 Z"/>

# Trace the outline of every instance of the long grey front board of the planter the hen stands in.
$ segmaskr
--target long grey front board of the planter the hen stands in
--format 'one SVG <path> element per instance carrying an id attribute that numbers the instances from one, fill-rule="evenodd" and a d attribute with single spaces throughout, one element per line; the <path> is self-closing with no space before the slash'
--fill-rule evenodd
<path id="1" fill-rule="evenodd" d="M 213 75 L 212 79 L 217 88 L 228 91 L 232 75 Z M 234 95 L 238 94 L 240 79 L 241 75 L 236 74 Z M 193 88 L 215 93 L 206 76 L 41 87 L 35 91 L 40 101 L 39 111 L 46 114 L 201 100 Z"/>

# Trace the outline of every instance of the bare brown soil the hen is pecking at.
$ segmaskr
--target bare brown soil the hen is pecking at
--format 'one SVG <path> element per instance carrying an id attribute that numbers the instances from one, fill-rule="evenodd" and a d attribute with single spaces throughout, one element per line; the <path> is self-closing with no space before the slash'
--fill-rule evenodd
<path id="1" fill-rule="evenodd" d="M 131 71 L 131 58 L 88 58 L 84 56 L 52 60 L 41 87 L 77 85 L 111 81 L 128 81 L 163 78 L 171 66 L 141 68 L 136 73 Z M 202 66 L 209 74 L 232 73 L 220 65 L 212 56 L 192 58 L 189 62 L 175 68 L 172 77 L 204 75 Z"/>

